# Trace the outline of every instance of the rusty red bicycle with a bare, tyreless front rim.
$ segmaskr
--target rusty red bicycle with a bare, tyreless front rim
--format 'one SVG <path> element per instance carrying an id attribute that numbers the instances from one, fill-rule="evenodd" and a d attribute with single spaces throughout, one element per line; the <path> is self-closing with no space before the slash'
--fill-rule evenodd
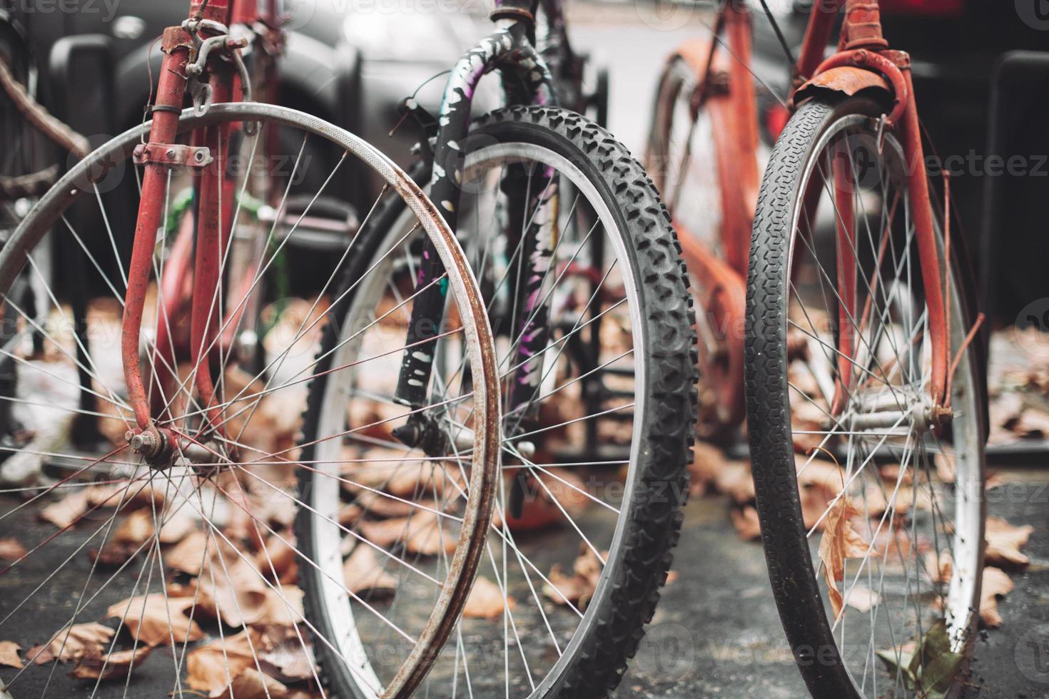
<path id="1" fill-rule="evenodd" d="M 188 19 L 169 27 L 160 42 L 165 57 L 152 121 L 71 168 L 0 250 L 4 322 L 15 330 L 0 353 L 20 368 L 20 391 L 28 398 L 19 400 L 44 403 L 52 419 L 98 418 L 110 439 L 103 453 L 85 455 L 60 434 L 42 456 L 61 477 L 44 474 L 42 483 L 0 494 L 6 533 L 28 507 L 68 494 L 41 512 L 58 530 L 0 568 L 9 590 L 0 633 L 24 635 L 14 625 L 26 615 L 35 617 L 35 628 L 55 632 L 43 645 L 47 652 L 27 656 L 5 687 L 49 665 L 38 680 L 46 694 L 52 683 L 69 681 L 64 673 L 56 677 L 59 663 L 76 661 L 72 675 L 93 684 L 92 696 L 114 678 L 126 696 L 135 668 L 163 668 L 144 663 L 152 649 L 170 646 L 172 692 L 221 692 L 247 681 L 238 670 L 283 670 L 274 669 L 273 656 L 261 659 L 263 642 L 277 642 L 253 626 L 261 624 L 282 630 L 282 651 L 305 658 L 323 653 L 323 670 L 307 663 L 293 679 L 324 691 L 322 674 L 336 672 L 338 663 L 368 696 L 407 696 L 425 678 L 467 600 L 498 474 L 498 379 L 487 315 L 454 236 L 402 171 L 352 134 L 252 101 L 259 86 L 253 79 L 273 74 L 279 26 L 273 0 L 191 2 Z M 262 82 L 263 90 L 273 85 Z M 187 96 L 193 106 L 184 110 Z M 296 145 L 290 171 L 270 161 L 278 130 Z M 334 162 L 305 158 L 306 152 L 334 153 Z M 249 167 L 237 167 L 234 159 L 243 155 Z M 318 280 L 315 300 L 279 344 L 257 332 L 260 318 L 280 312 L 273 281 L 298 232 L 352 234 L 336 269 L 341 275 L 354 266 L 359 225 L 368 217 L 358 224 L 345 206 L 324 205 L 328 197 L 341 200 L 339 173 L 351 167 L 385 182 L 382 201 L 398 202 L 410 237 L 425 240 L 443 267 L 430 283 L 441 287 L 449 312 L 427 343 L 464 370 L 456 377 L 433 372 L 433 391 L 411 407 L 381 396 L 393 393 L 384 380 L 397 377 L 401 355 L 421 347 L 403 342 L 403 330 L 391 333 L 389 319 L 411 311 L 421 294 L 409 289 L 384 312 L 372 307 L 369 315 L 358 315 L 352 326 L 333 322 L 355 289 L 397 289 L 404 265 L 392 271 L 389 265 L 354 267 L 339 296 L 334 272 Z M 126 205 L 117 195 L 128 188 L 117 184 L 129 178 L 137 214 L 125 267 L 111 221 Z M 293 196 L 306 187 L 316 190 Z M 111 258 L 91 254 L 73 225 L 69 212 L 85 205 L 95 207 Z M 69 330 L 66 304 L 53 289 L 46 287 L 43 297 L 47 323 L 26 313 L 10 292 L 20 276 L 40 277 L 35 258 L 48 234 L 82 248 L 98 272 L 89 280 L 89 343 Z M 370 248 L 378 260 L 407 259 L 403 241 L 387 242 Z M 339 340 L 314 356 L 321 332 Z M 41 353 L 25 347 L 34 333 L 42 337 Z M 266 345 L 261 367 L 259 344 Z M 119 367 L 107 361 L 113 356 Z M 77 371 L 90 376 L 92 410 L 63 394 L 80 388 Z M 362 411 L 367 419 L 360 419 Z M 425 416 L 431 428 L 425 453 L 401 449 L 385 464 L 365 453 L 391 444 L 390 430 L 410 416 Z M 394 496 L 352 477 L 358 467 L 376 471 L 391 462 L 426 464 L 430 479 Z M 440 484 L 458 488 L 462 497 L 435 496 Z M 346 526 L 343 489 L 369 492 L 426 517 L 377 543 L 378 537 Z M 373 559 L 371 568 L 344 571 L 343 555 L 350 553 L 338 545 L 344 533 Z M 429 550 L 433 538 L 440 555 L 421 561 L 420 546 Z M 44 560 L 56 541 L 68 542 L 65 550 L 72 551 L 57 565 Z M 401 583 L 386 606 L 362 587 L 380 562 L 392 564 Z M 36 585 L 29 573 L 41 567 L 48 574 Z M 38 594 L 56 580 L 69 582 L 73 567 L 83 580 L 72 578 L 76 588 L 62 604 Z M 73 629 L 85 618 L 102 618 L 100 605 L 128 634 L 102 633 L 102 641 L 78 655 L 84 641 Z M 160 632 L 144 620 L 150 609 L 167 620 Z M 380 649 L 383 630 L 395 630 L 408 648 Z M 349 654 L 354 645 L 381 651 L 382 668 Z M 224 676 L 200 675 L 198 658 L 209 652 L 223 658 Z M 230 662 L 234 654 L 240 664 Z"/>

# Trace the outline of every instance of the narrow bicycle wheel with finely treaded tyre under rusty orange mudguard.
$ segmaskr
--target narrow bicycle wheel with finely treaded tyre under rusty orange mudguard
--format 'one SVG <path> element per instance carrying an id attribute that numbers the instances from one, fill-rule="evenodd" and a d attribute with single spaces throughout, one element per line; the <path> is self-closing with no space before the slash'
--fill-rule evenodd
<path id="1" fill-rule="evenodd" d="M 806 103 L 773 151 L 751 241 L 757 511 L 817 697 L 957 690 L 980 607 L 986 395 L 980 343 L 966 345 L 971 277 L 937 230 L 957 367 L 954 419 L 935 428 L 909 171 L 882 113 L 864 99 Z"/>

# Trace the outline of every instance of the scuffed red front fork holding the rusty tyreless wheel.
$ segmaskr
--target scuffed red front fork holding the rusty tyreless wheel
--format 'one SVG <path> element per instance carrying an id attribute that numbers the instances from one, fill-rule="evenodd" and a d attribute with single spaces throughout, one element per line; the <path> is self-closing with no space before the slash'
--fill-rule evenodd
<path id="1" fill-rule="evenodd" d="M 195 27 L 201 38 L 222 36 L 219 27 L 236 24 L 254 27 L 262 22 L 276 30 L 277 20 L 277 0 L 267 0 L 261 7 L 256 0 L 192 0 L 190 3 L 189 25 Z M 238 40 L 229 39 L 222 48 L 226 51 L 236 51 L 242 45 Z M 210 126 L 193 132 L 190 134 L 190 146 L 176 144 L 178 118 L 190 78 L 187 68 L 197 59 L 196 46 L 193 35 L 185 26 L 172 26 L 164 31 L 164 60 L 152 107 L 153 122 L 149 140 L 135 150 L 135 159 L 143 165 L 144 173 L 128 267 L 121 355 L 128 398 L 136 423 L 129 439 L 137 437 L 132 444 L 147 458 L 159 456 L 166 445 L 175 443 L 170 431 L 155 424 L 155 419 L 159 416 L 153 414 L 155 407 L 150 405 L 138 354 L 153 248 L 157 230 L 165 223 L 163 215 L 168 177 L 174 167 L 194 168 L 193 180 L 197 193 L 195 258 L 192 269 L 183 264 L 179 274 L 193 276 L 189 311 L 190 361 L 197 397 L 208 421 L 216 429 L 221 429 L 222 410 L 215 401 L 209 355 L 210 348 L 216 343 L 220 320 L 214 302 L 221 274 L 220 261 L 224 259 L 233 230 L 233 181 L 226 172 L 231 125 Z M 218 67 L 216 61 L 210 61 L 207 78 L 212 102 L 230 102 L 243 96 L 244 86 L 240 75 L 229 66 Z M 208 163 L 213 165 L 207 167 Z M 176 286 L 177 284 L 178 280 L 175 282 Z"/>

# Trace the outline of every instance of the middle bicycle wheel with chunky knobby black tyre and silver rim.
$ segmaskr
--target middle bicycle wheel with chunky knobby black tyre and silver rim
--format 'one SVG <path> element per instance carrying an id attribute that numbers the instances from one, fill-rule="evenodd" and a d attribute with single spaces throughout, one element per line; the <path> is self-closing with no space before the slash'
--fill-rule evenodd
<path id="1" fill-rule="evenodd" d="M 457 236 L 496 336 L 504 479 L 480 577 L 420 692 L 605 696 L 651 618 L 686 495 L 694 362 L 679 250 L 640 166 L 579 115 L 500 110 L 461 144 Z M 407 281 L 420 247 L 395 219 L 391 207 L 362 231 L 358 264 L 380 260 Z M 548 257 L 532 255 L 536 240 L 552 241 Z M 541 258 L 545 272 L 532 266 Z M 397 286 L 355 296 L 345 324 L 389 307 Z M 542 327 L 524 323 L 538 316 Z M 544 340 L 521 353 L 526 327 Z M 434 371 L 457 377 L 462 363 L 438 351 Z M 329 679 L 361 694 L 351 677 Z"/>

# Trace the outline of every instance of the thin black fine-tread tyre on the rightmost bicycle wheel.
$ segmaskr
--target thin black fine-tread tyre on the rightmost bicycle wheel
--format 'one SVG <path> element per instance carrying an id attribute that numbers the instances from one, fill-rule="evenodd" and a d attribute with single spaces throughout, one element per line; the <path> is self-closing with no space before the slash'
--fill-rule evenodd
<path id="1" fill-rule="evenodd" d="M 762 180 L 750 243 L 745 390 L 757 512 L 779 618 L 806 685 L 817 699 L 858 698 L 859 694 L 831 632 L 801 514 L 788 396 L 790 244 L 805 168 L 816 155 L 813 150 L 820 136 L 844 116 L 876 117 L 883 112 L 881 106 L 864 97 L 835 95 L 804 104 L 788 122 L 772 152 Z M 970 321 L 966 327 L 970 327 L 971 300 L 976 296 L 971 275 L 959 274 L 964 265 L 959 257 L 951 259 L 954 283 L 965 306 L 960 310 Z M 967 350 L 971 367 L 983 366 L 979 345 L 973 343 Z M 972 385 L 978 391 L 984 390 L 979 375 Z M 986 405 L 985 393 L 978 397 L 978 405 Z M 979 597 L 979 582 L 976 593 Z M 966 650 L 971 652 L 971 643 Z"/>

